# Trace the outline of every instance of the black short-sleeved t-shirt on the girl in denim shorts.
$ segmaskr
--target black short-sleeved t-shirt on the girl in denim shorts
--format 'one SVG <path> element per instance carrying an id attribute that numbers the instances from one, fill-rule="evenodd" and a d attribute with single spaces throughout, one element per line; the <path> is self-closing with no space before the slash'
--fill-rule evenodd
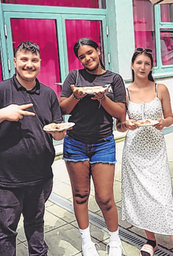
<path id="1" fill-rule="evenodd" d="M 66 77 L 62 88 L 62 97 L 68 98 L 72 95 L 70 85 L 75 85 L 76 75 L 77 70 L 72 70 Z M 93 75 L 85 69 L 79 70 L 76 86 L 105 86 L 108 84 L 111 86 L 106 95 L 114 102 L 125 103 L 125 87 L 119 74 L 107 70 L 104 74 Z M 92 100 L 91 97 L 93 96 L 86 95 L 82 100 L 79 100 L 68 119 L 70 122 L 75 122 L 76 125 L 67 134 L 86 144 L 104 141 L 106 137 L 112 134 L 113 125 L 112 116 L 102 106 L 99 108 L 99 101 Z"/>

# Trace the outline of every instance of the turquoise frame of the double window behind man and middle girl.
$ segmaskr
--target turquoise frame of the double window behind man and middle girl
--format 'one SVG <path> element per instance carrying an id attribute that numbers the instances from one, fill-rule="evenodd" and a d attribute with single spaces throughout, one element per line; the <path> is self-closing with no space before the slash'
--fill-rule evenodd
<path id="1" fill-rule="evenodd" d="M 113 0 L 111 0 L 113 4 Z M 109 2 L 109 4 L 110 4 Z M 0 49 L 2 53 L 2 69 L 3 78 L 11 77 L 15 70 L 13 65 L 13 44 L 11 40 L 10 18 L 36 18 L 36 19 L 54 19 L 57 24 L 57 43 L 60 50 L 60 72 L 61 80 L 65 79 L 68 74 L 68 58 L 66 47 L 65 19 L 87 19 L 98 20 L 102 23 L 102 40 L 104 45 L 105 65 L 107 69 L 112 70 L 112 62 L 109 58 L 110 54 L 110 36 L 107 35 L 109 23 L 112 16 L 108 16 L 108 7 L 106 9 L 97 8 L 74 8 L 59 6 L 36 6 L 36 5 L 18 5 L 18 4 L 0 4 Z M 115 32 L 114 32 L 115 33 Z M 113 34 L 114 34 L 113 33 Z M 112 36 L 112 35 L 111 35 Z M 112 57 L 113 59 L 113 57 Z M 118 67 L 118 65 L 117 65 Z M 118 71 L 118 70 L 117 70 Z"/>

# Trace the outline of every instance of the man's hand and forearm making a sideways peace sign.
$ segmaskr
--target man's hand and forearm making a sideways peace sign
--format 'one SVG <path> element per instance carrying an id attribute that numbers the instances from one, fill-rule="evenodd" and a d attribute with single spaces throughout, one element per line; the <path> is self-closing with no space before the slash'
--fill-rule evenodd
<path id="1" fill-rule="evenodd" d="M 4 120 L 18 121 L 19 119 L 22 119 L 24 116 L 35 116 L 35 113 L 25 110 L 32 106 L 32 103 L 24 105 L 11 104 L 7 107 L 1 108 L 0 123 Z"/>

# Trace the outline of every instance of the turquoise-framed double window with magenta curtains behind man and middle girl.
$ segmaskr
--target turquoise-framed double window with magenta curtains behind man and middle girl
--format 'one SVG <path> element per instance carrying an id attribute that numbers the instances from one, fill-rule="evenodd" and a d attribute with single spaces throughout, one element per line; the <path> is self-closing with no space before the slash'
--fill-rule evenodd
<path id="1" fill-rule="evenodd" d="M 14 4 L 9 4 L 11 1 Z M 17 4 L 19 1 L 21 0 L 3 0 L 4 4 L 0 4 L 8 34 L 6 37 L 3 34 L 7 45 L 5 65 L 3 66 L 5 79 L 14 74 L 14 51 L 17 45 L 25 40 L 30 40 L 40 46 L 42 62 L 38 78 L 41 83 L 54 89 L 57 96 L 60 95 L 61 85 L 68 72 L 72 69 L 82 68 L 73 53 L 74 43 L 80 37 L 91 37 L 96 40 L 101 47 L 103 63 L 112 68 L 112 63 L 108 58 L 109 38 L 107 39 L 106 36 L 106 25 L 109 25 L 107 9 L 31 6 L 26 4 L 28 0 L 21 1 L 22 5 L 19 6 Z M 54 0 L 55 2 L 58 1 Z M 71 5 L 72 3 L 88 3 L 90 6 L 97 3 L 97 6 L 100 6 L 106 1 L 61 0 L 60 2 L 66 5 L 68 3 Z M 42 0 L 42 2 L 41 0 L 30 0 L 29 3 L 52 4 L 53 0 Z M 48 73 L 49 75 L 47 75 Z"/>

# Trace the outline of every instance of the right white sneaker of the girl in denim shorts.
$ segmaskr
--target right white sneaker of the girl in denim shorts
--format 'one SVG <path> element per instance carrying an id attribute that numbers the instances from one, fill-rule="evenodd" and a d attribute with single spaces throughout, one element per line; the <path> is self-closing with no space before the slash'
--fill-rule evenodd
<path id="1" fill-rule="evenodd" d="M 113 242 L 111 241 L 106 245 L 107 253 L 108 253 L 108 247 L 109 247 L 108 256 L 122 256 L 122 251 L 123 251 L 123 254 L 126 255 L 120 239 L 118 241 L 113 241 Z"/>

